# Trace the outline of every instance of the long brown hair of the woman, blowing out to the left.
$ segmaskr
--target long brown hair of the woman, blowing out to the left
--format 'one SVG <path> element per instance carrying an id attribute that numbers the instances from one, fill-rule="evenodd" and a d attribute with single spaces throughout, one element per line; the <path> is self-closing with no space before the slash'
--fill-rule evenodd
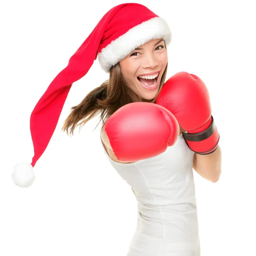
<path id="1" fill-rule="evenodd" d="M 155 103 L 166 79 L 167 65 L 161 78 L 156 97 L 151 100 L 144 99 L 144 102 Z M 99 122 L 102 121 L 104 123 L 105 116 L 109 117 L 122 106 L 138 101 L 139 98 L 137 94 L 125 84 L 119 63 L 117 63 L 115 66 L 111 67 L 109 80 L 91 90 L 79 105 L 71 108 L 71 113 L 64 121 L 62 131 L 66 131 L 68 135 L 73 135 L 77 126 L 80 125 L 81 128 L 86 122 L 93 119 L 93 117 L 97 116 L 99 113 Z"/>

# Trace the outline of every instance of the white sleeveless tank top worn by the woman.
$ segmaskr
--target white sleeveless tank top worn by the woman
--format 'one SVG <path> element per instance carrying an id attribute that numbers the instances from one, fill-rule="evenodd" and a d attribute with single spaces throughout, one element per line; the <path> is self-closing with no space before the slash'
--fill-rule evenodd
<path id="1" fill-rule="evenodd" d="M 200 256 L 194 152 L 183 136 L 163 153 L 135 163 L 117 163 L 105 154 L 138 202 L 126 256 Z"/>

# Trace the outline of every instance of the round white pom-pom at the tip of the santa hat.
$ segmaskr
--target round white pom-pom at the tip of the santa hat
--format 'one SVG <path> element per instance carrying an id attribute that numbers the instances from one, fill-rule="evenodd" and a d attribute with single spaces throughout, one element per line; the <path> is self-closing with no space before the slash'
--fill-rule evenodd
<path id="1" fill-rule="evenodd" d="M 28 163 L 18 163 L 12 171 L 12 180 L 21 188 L 27 188 L 32 185 L 35 180 L 35 174 L 32 165 Z"/>

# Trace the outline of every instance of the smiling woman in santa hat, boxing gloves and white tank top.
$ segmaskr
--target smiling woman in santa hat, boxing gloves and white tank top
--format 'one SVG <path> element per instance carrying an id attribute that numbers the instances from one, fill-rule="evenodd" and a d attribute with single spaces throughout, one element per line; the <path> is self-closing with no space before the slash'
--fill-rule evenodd
<path id="1" fill-rule="evenodd" d="M 109 80 L 72 108 L 63 130 L 73 134 L 78 125 L 101 114 L 103 150 L 138 200 L 137 230 L 127 256 L 199 256 L 192 167 L 209 180 L 218 176 L 218 132 L 209 108 L 200 111 L 207 105 L 205 85 L 187 73 L 165 83 L 170 41 L 169 26 L 145 6 L 122 4 L 106 13 L 35 106 L 30 120 L 35 155 L 31 165 L 19 164 L 12 174 L 18 186 L 32 184 L 33 166 L 47 148 L 71 85 L 98 56 Z M 180 93 L 172 93 L 177 88 L 184 89 L 181 99 Z M 197 98 L 199 110 L 193 100 L 189 104 L 193 113 L 209 120 L 207 124 L 198 116 L 188 122 L 190 108 L 179 112 L 172 104 L 182 110 L 191 88 L 202 96 Z M 213 163 L 211 172 L 202 171 Z"/>

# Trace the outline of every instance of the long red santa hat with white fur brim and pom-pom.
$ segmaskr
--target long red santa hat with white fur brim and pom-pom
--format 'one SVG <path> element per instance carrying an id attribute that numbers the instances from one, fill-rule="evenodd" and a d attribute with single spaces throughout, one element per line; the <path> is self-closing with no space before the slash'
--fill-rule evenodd
<path id="1" fill-rule="evenodd" d="M 138 3 L 124 3 L 113 7 L 99 21 L 90 35 L 71 56 L 64 68 L 49 84 L 30 117 L 30 131 L 34 146 L 32 163 L 19 163 L 12 172 L 17 186 L 30 186 L 35 175 L 33 167 L 44 153 L 58 123 L 72 84 L 90 70 L 97 56 L 106 72 L 130 52 L 152 39 L 171 42 L 172 34 L 165 20 Z"/>

